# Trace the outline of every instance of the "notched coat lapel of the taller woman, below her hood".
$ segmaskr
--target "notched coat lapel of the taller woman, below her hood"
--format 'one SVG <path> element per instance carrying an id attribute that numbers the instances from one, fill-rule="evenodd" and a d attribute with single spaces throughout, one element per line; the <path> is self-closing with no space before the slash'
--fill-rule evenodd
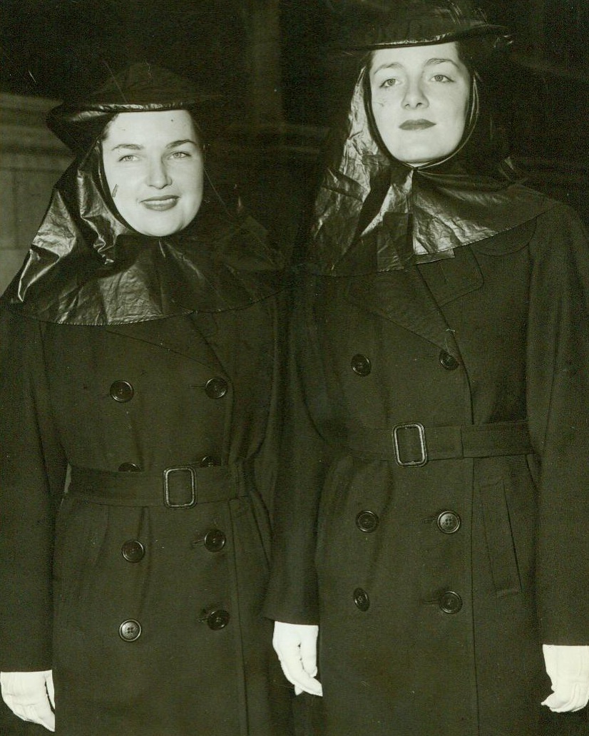
<path id="1" fill-rule="evenodd" d="M 347 298 L 459 358 L 458 347 L 440 305 L 479 289 L 483 283 L 470 249 L 460 250 L 468 250 L 466 258 L 448 258 L 352 278 Z"/>

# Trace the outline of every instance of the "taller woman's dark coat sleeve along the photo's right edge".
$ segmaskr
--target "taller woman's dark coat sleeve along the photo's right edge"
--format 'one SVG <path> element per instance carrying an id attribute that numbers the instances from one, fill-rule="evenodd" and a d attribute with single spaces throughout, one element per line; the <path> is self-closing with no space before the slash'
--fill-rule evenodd
<path id="1" fill-rule="evenodd" d="M 527 407 L 540 456 L 537 608 L 546 644 L 589 644 L 589 242 L 574 212 L 532 241 Z"/>

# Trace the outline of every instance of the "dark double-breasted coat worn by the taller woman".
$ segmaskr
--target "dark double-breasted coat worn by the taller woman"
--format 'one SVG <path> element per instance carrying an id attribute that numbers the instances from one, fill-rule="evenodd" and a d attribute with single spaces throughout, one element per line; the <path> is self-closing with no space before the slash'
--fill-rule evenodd
<path id="1" fill-rule="evenodd" d="M 564 205 L 454 258 L 301 278 L 265 612 L 320 625 L 324 736 L 552 733 L 541 645 L 589 643 L 588 290 Z M 518 421 L 527 454 L 393 459 L 399 423 Z M 354 446 L 373 430 L 389 459 Z"/>

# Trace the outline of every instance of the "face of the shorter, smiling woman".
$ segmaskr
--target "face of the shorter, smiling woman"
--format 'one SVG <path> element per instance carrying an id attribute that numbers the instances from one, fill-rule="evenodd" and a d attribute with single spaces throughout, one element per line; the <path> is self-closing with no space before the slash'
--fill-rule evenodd
<path id="1" fill-rule="evenodd" d="M 116 209 L 148 236 L 186 227 L 202 202 L 202 149 L 187 110 L 119 113 L 102 139 Z"/>

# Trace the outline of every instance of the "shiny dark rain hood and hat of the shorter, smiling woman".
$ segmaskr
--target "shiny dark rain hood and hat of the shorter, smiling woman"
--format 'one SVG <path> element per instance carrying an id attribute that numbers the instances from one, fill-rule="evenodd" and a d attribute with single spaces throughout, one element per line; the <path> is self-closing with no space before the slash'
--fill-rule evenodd
<path id="1" fill-rule="evenodd" d="M 113 325 L 239 308 L 281 288 L 282 257 L 264 228 L 228 214 L 206 190 L 193 222 L 165 237 L 135 232 L 110 197 L 99 141 L 108 121 L 158 110 L 189 110 L 198 121 L 201 99 L 186 79 L 140 63 L 49 113 L 77 158 L 54 187 L 4 305 L 47 322 Z"/>

